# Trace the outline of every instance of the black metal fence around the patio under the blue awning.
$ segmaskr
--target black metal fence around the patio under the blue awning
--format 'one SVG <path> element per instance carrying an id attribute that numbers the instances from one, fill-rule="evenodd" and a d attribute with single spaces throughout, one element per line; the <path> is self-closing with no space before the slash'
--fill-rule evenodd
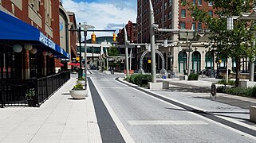
<path id="1" fill-rule="evenodd" d="M 61 72 L 40 79 L 1 79 L 1 107 L 41 106 L 69 79 L 70 72 Z"/>

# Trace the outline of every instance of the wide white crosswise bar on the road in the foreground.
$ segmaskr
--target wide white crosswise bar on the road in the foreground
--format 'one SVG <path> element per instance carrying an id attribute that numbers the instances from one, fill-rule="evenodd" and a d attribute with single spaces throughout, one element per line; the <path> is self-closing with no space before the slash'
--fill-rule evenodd
<path id="1" fill-rule="evenodd" d="M 128 121 L 130 125 L 141 126 L 156 126 L 156 125 L 207 125 L 207 122 L 203 121 Z"/>

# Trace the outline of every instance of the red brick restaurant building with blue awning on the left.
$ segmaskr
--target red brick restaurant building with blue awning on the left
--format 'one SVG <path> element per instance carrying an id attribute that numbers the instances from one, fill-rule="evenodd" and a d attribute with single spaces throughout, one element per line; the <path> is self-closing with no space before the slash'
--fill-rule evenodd
<path id="1" fill-rule="evenodd" d="M 70 58 L 69 44 L 61 44 L 60 1 L 1 0 L 0 27 L 1 104 L 27 105 L 26 93 L 32 90 L 39 106 L 70 77 L 61 76 L 54 85 L 44 83 L 57 77 L 61 59 Z"/>

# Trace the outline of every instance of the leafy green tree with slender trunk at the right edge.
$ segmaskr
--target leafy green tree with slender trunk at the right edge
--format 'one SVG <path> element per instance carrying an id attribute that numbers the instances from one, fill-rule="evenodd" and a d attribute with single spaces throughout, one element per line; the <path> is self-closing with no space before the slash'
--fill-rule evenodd
<path id="1" fill-rule="evenodd" d="M 255 40 L 255 25 L 249 20 L 234 20 L 234 29 L 226 29 L 226 17 L 240 16 L 241 13 L 250 13 L 254 2 L 253 0 L 203 0 L 204 2 L 212 2 L 215 14 L 208 14 L 208 10 L 202 6 L 190 2 L 183 3 L 189 6 L 191 16 L 194 20 L 205 23 L 207 31 L 210 31 L 210 44 L 207 46 L 209 50 L 215 52 L 217 60 L 219 57 L 231 57 L 235 60 L 236 81 L 235 86 L 238 87 L 239 73 L 241 68 L 241 58 L 255 56 L 255 46 L 252 41 Z"/>

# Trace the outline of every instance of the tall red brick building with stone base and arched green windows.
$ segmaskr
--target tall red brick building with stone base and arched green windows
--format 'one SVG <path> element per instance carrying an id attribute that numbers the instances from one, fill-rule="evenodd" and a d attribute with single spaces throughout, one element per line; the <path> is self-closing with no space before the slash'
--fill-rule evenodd
<path id="1" fill-rule="evenodd" d="M 177 30 L 194 29 L 195 31 L 207 29 L 203 23 L 194 21 L 194 18 L 191 17 L 191 11 L 187 10 L 188 6 L 183 5 L 183 2 L 198 5 L 199 8 L 208 10 L 208 14 L 214 15 L 215 10 L 213 9 L 212 2 L 204 2 L 203 0 L 152 0 L 155 23 L 159 25 L 159 28 Z M 148 0 L 137 1 L 137 26 L 138 43 L 150 43 Z M 192 52 L 183 50 L 187 48 L 186 37 L 186 33 L 156 33 L 156 42 L 167 40 L 173 43 L 168 44 L 167 48 L 161 45 L 159 46 L 159 50 L 164 56 L 167 71 L 175 72 L 175 74 L 185 74 L 188 64 L 191 65 L 191 69 L 195 72 L 203 69 L 216 68 L 213 53 L 207 52 L 201 41 L 197 41 L 199 37 L 193 37 L 193 34 L 189 34 L 189 45 L 191 44 Z M 138 48 L 138 58 L 140 58 L 144 50 L 145 47 Z M 190 63 L 188 63 L 188 58 L 191 58 Z M 157 70 L 161 69 L 162 64 L 160 61 L 160 56 L 157 56 Z M 144 68 L 148 67 L 149 65 L 147 66 L 147 63 L 145 63 Z"/>

